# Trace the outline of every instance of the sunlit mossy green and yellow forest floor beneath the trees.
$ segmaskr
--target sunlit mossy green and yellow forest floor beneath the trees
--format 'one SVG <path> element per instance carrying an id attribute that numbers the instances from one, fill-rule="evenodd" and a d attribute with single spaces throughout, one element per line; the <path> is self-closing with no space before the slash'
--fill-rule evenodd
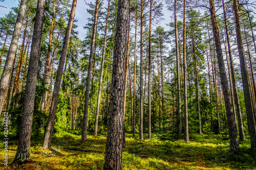
<path id="1" fill-rule="evenodd" d="M 123 149 L 123 169 L 256 169 L 256 153 L 250 153 L 249 136 L 240 143 L 241 155 L 228 152 L 227 135 L 190 135 L 189 143 L 167 134 L 154 134 L 140 141 L 138 134 L 126 135 Z M 3 135 L 0 135 L 2 139 Z M 147 136 L 147 134 L 144 134 Z M 78 131 L 55 134 L 52 148 L 43 149 L 42 139 L 31 142 L 31 160 L 11 164 L 17 150 L 17 140 L 8 144 L 8 166 L 4 166 L 4 143 L 0 143 L 0 169 L 102 169 L 104 153 L 73 151 L 69 148 L 105 151 L 105 134 L 88 135 L 81 141 Z M 148 157 L 143 157 L 145 155 Z"/>

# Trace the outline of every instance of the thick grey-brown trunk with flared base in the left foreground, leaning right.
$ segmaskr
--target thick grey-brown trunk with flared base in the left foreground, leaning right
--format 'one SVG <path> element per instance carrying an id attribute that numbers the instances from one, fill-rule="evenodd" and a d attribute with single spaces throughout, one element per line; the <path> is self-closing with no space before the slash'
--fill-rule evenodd
<path id="1" fill-rule="evenodd" d="M 46 0 L 38 0 L 31 52 L 30 52 L 30 59 L 29 59 L 28 76 L 27 76 L 25 99 L 24 99 L 24 109 L 22 114 L 22 124 L 20 125 L 18 148 L 17 148 L 17 152 L 13 162 L 24 162 L 30 159 L 30 138 L 31 138 L 31 130 L 32 130 L 35 88 L 36 88 L 40 44 L 41 44 L 41 36 L 42 36 L 42 25 L 44 23 L 44 16 L 45 16 L 44 15 L 45 6 L 46 6 Z"/>

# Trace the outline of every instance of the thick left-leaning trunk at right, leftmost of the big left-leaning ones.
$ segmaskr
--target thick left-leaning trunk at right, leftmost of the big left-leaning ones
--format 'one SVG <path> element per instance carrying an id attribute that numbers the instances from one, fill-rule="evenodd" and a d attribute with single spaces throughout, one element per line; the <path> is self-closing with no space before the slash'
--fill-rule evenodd
<path id="1" fill-rule="evenodd" d="M 222 90 L 223 90 L 223 95 L 225 100 L 225 108 L 226 108 L 229 139 L 230 139 L 230 151 L 232 153 L 239 154 L 240 148 L 238 143 L 238 134 L 237 134 L 238 132 L 237 132 L 236 122 L 234 119 L 234 114 L 232 112 L 232 103 L 231 103 L 226 69 L 225 69 L 225 64 L 224 64 L 223 54 L 221 49 L 221 41 L 220 41 L 220 34 L 219 34 L 218 25 L 217 25 L 214 0 L 209 0 L 209 4 L 210 4 L 212 29 L 214 31 L 215 46 L 216 46 L 216 52 L 217 52 L 219 70 L 220 70 L 221 85 L 222 85 Z"/>

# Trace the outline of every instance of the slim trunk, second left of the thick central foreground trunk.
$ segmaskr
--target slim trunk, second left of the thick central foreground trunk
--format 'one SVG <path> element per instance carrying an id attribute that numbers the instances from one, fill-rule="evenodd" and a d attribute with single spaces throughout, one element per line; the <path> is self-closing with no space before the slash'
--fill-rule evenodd
<path id="1" fill-rule="evenodd" d="M 84 110 L 83 110 L 83 121 L 82 121 L 82 141 L 87 140 L 87 118 L 88 118 L 89 94 L 90 94 L 91 74 L 92 74 L 92 67 L 93 67 L 95 37 L 96 37 L 96 30 L 97 30 L 98 9 L 99 9 L 99 0 L 96 0 L 93 35 L 92 35 L 92 41 L 91 41 L 91 51 L 90 51 L 89 66 L 88 66 L 87 81 L 86 81 L 86 91 L 84 91 L 85 99 L 84 99 Z"/>

